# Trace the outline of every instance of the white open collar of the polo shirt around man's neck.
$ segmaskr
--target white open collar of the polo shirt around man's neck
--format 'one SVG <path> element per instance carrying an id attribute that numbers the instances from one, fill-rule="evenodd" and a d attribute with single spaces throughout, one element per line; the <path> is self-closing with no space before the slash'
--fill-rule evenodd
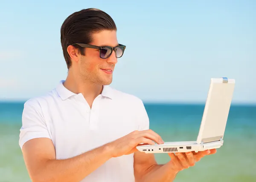
<path id="1" fill-rule="evenodd" d="M 69 98 L 73 95 L 77 95 L 77 94 L 73 93 L 72 91 L 68 90 L 66 87 L 64 87 L 64 85 L 63 85 L 64 81 L 65 80 L 61 80 L 56 87 L 56 91 L 62 100 L 66 100 L 67 98 Z M 103 85 L 101 95 L 104 97 L 108 97 L 112 100 L 113 100 L 113 96 L 114 96 L 113 90 L 109 85 Z"/>

